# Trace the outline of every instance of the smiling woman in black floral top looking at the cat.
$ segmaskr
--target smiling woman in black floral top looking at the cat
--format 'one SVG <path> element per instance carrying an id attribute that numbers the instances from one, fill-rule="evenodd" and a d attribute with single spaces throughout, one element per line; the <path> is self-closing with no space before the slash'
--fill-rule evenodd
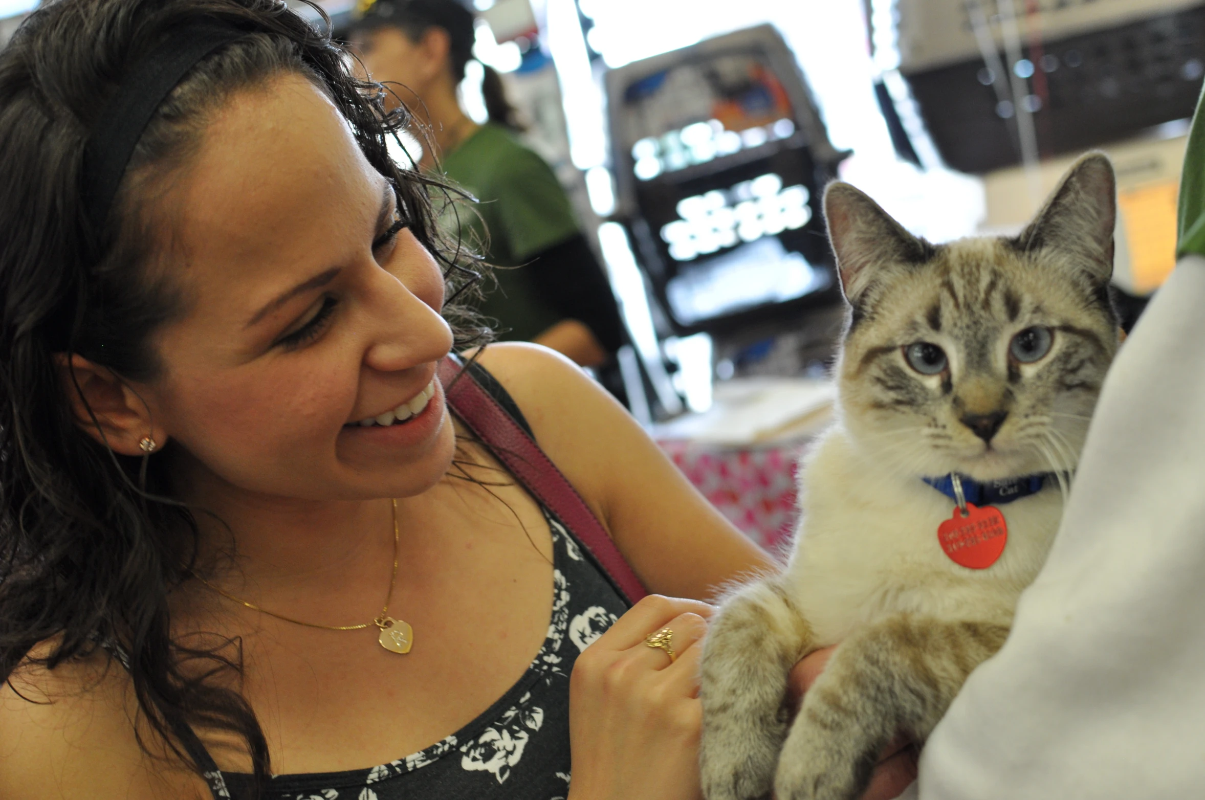
<path id="1" fill-rule="evenodd" d="M 628 610 L 449 414 L 402 114 L 275 0 L 0 52 L 6 800 L 696 796 L 709 606 Z M 476 355 L 649 590 L 768 565 L 568 360 Z"/>

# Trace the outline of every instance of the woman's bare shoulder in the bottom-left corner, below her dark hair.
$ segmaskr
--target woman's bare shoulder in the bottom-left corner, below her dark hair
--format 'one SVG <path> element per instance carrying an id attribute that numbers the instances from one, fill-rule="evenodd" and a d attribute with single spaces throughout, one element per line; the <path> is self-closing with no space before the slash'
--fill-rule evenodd
<path id="1" fill-rule="evenodd" d="M 43 646 L 39 649 L 43 649 Z M 139 745 L 135 725 L 152 752 Z M 49 670 L 24 661 L 0 684 L 0 798 L 210 796 L 201 778 L 154 751 L 130 680 L 104 652 Z"/>

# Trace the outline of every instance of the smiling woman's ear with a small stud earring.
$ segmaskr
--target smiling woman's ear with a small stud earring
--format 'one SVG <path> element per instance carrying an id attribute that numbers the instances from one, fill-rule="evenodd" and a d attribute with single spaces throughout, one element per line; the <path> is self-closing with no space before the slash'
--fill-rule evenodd
<path id="1" fill-rule="evenodd" d="M 155 429 L 149 406 L 129 383 L 82 355 L 60 354 L 58 364 L 81 430 L 122 455 L 142 455 L 163 447 L 166 434 Z"/>

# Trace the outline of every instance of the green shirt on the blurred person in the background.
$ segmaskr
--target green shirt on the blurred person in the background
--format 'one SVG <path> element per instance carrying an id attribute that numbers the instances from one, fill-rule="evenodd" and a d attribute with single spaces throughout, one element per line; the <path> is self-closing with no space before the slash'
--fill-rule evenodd
<path id="1" fill-rule="evenodd" d="M 542 158 L 502 125 L 486 123 L 443 158 L 443 173 L 471 192 L 480 219 L 460 210 L 465 241 L 484 243 L 496 287 L 478 310 L 499 322 L 499 339 L 530 340 L 560 322 L 523 264 L 578 233 L 565 190 Z M 484 230 L 482 230 L 484 223 Z M 488 234 L 488 235 L 487 235 Z M 513 267 L 513 269 L 506 269 Z"/>

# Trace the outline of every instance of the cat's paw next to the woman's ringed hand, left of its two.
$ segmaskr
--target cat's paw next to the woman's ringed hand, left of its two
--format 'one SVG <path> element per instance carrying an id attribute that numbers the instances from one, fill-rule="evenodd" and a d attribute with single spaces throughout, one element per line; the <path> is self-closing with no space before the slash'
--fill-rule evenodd
<path id="1" fill-rule="evenodd" d="M 756 725 L 704 725 L 699 742 L 703 796 L 707 800 L 769 798 L 782 743 L 776 730 Z"/>

